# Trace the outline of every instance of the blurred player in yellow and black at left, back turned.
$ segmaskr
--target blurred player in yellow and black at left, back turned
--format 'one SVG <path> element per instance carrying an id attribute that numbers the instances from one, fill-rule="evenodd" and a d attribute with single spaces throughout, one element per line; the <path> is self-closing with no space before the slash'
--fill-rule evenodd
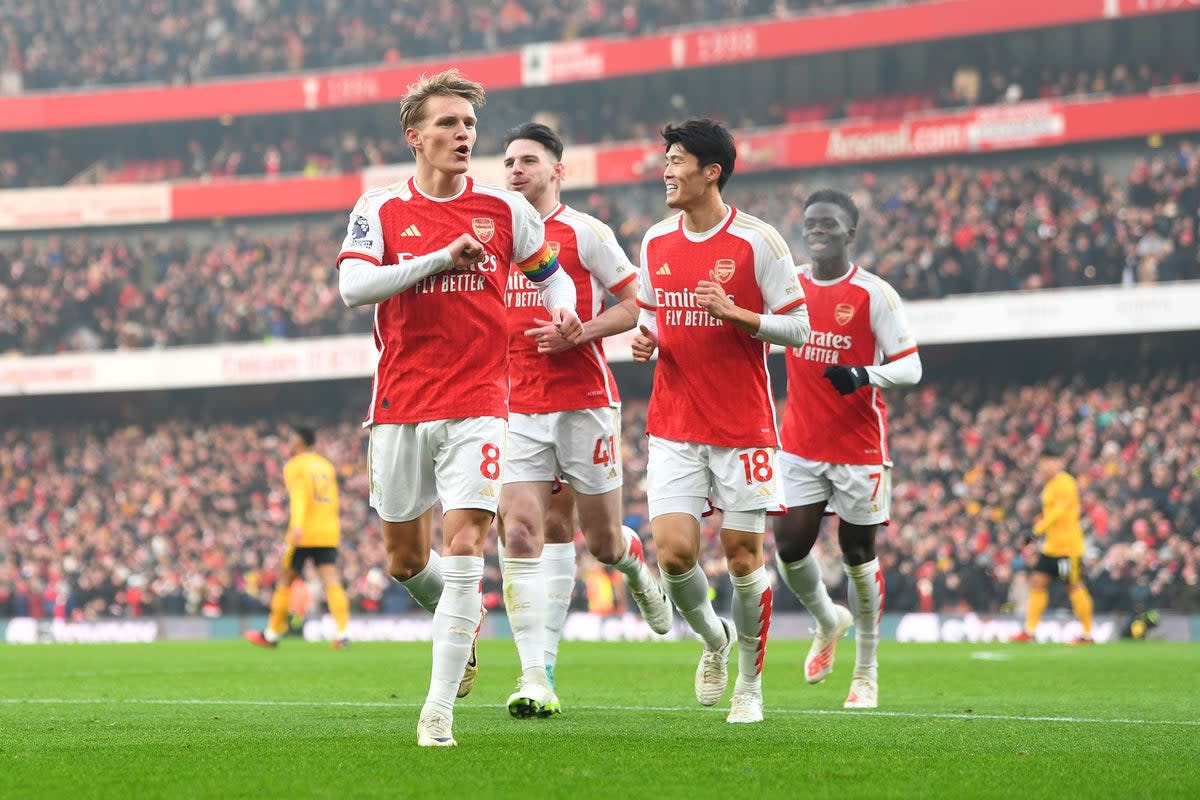
<path id="1" fill-rule="evenodd" d="M 271 595 L 271 615 L 263 631 L 247 631 L 246 639 L 274 648 L 288 631 L 292 584 L 304 577 L 305 564 L 312 563 L 325 588 L 325 603 L 337 624 L 334 649 L 349 644 L 346 626 L 350 621 L 350 601 L 337 575 L 337 547 L 342 541 L 338 522 L 337 471 L 328 458 L 313 451 L 317 434 L 312 428 L 296 427 L 292 434 L 292 457 L 283 465 L 292 516 L 288 521 L 288 548 L 280 563 L 280 577 Z"/>

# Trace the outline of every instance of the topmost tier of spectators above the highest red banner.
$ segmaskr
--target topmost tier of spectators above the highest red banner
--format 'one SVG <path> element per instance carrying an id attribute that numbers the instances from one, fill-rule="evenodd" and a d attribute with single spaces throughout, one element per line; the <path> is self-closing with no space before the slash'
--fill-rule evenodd
<path id="1" fill-rule="evenodd" d="M 188 84 L 632 36 L 862 1 L 107 0 L 102 16 L 77 0 L 6 2 L 0 5 L 0 71 L 19 76 L 25 91 Z"/>

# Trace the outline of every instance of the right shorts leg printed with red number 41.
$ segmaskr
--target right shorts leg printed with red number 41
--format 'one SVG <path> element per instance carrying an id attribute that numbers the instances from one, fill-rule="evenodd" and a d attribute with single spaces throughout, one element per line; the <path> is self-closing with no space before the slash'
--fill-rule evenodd
<path id="1" fill-rule="evenodd" d="M 554 441 L 563 476 L 580 494 L 605 494 L 620 488 L 620 409 L 584 408 L 560 411 Z"/>

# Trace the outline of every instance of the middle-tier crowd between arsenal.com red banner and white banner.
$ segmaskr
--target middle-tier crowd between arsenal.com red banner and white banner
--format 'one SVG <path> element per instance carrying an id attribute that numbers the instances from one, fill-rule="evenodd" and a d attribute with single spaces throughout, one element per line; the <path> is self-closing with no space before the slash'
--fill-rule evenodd
<path id="1" fill-rule="evenodd" d="M 1021 167 L 922 167 L 859 178 L 857 260 L 910 300 L 1200 278 L 1200 149 L 1142 152 L 1118 178 L 1090 157 Z M 727 197 L 772 221 L 803 259 L 809 187 L 743 178 Z M 571 198 L 568 198 L 572 201 Z M 580 207 L 635 259 L 661 192 L 594 192 Z M 574 200 L 577 203 L 577 200 Z M 343 218 L 206 235 L 28 236 L 0 242 L 0 353 L 161 348 L 365 332 L 331 267 Z"/>

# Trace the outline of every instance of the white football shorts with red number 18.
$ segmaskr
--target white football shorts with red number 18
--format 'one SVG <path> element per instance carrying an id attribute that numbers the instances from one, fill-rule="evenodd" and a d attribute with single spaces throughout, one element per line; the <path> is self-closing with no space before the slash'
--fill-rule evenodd
<path id="1" fill-rule="evenodd" d="M 652 518 L 655 506 L 682 498 L 707 498 L 726 513 L 786 511 L 775 447 L 719 447 L 650 437 L 646 497 Z"/>

